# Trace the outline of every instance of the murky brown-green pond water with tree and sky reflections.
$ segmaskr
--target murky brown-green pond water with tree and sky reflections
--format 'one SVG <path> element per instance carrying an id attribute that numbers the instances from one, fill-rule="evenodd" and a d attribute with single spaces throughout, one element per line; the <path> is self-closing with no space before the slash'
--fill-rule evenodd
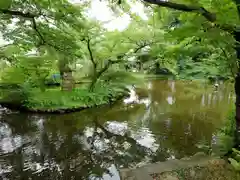
<path id="1" fill-rule="evenodd" d="M 119 168 L 211 145 L 234 103 L 231 84 L 151 80 L 113 105 L 65 115 L 0 111 L 0 178 L 119 180 Z M 110 173 L 110 175 L 109 175 Z"/>

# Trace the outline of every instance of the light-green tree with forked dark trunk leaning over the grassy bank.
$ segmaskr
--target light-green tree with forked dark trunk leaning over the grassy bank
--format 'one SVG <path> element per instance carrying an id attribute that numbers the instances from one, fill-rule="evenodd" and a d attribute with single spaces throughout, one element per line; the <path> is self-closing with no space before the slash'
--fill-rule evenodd
<path id="1" fill-rule="evenodd" d="M 129 58 L 138 56 L 143 48 L 153 43 L 152 35 L 142 30 L 133 33 L 134 26 L 123 32 L 107 31 L 99 23 L 91 21 L 86 26 L 84 37 L 79 34 L 79 38 L 82 37 L 81 54 L 91 64 L 90 91 L 101 79 L 107 83 L 117 76 L 122 81 L 131 78 L 133 74 L 123 72 L 122 66 L 129 63 Z"/>

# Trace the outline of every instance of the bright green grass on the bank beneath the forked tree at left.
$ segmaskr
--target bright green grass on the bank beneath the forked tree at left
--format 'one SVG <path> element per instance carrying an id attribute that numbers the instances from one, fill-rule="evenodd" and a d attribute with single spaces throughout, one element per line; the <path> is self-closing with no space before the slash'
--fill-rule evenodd
<path id="1" fill-rule="evenodd" d="M 108 104 L 123 96 L 126 91 L 123 88 L 96 86 L 93 92 L 89 92 L 84 87 L 75 88 L 73 91 L 61 91 L 60 88 L 49 88 L 45 92 L 41 92 L 38 88 L 32 88 L 27 91 L 24 98 L 16 98 L 21 95 L 12 92 L 0 98 L 8 99 L 9 102 L 16 102 L 19 99 L 23 107 L 31 110 L 59 110 L 87 108 L 96 105 Z M 19 95 L 20 94 L 20 95 Z M 13 98 L 13 96 L 16 96 Z M 4 98 L 5 97 L 5 98 Z"/>

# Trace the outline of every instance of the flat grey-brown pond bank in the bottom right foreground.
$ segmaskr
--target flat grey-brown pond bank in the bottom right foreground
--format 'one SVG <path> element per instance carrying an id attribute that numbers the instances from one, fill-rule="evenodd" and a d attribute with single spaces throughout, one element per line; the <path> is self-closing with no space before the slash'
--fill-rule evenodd
<path id="1" fill-rule="evenodd" d="M 240 180 L 240 174 L 234 171 L 227 161 L 204 153 L 136 169 L 122 169 L 120 176 L 122 180 Z"/>

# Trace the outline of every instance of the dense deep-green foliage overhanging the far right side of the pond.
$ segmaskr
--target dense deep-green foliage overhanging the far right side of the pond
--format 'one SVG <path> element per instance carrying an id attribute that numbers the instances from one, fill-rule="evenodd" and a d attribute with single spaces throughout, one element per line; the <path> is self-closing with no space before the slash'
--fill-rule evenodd
<path id="1" fill-rule="evenodd" d="M 179 1 L 178 1 L 179 3 Z M 186 1 L 184 4 L 203 6 L 216 15 L 221 23 L 237 24 L 237 12 L 232 1 Z M 216 4 L 215 4 L 216 3 Z M 225 5 L 220 6 L 224 3 Z M 224 8 L 223 8 L 224 7 Z M 231 9 L 231 10 L 230 10 Z M 234 11 L 234 10 L 235 11 Z M 224 12 L 224 13 L 223 13 Z M 225 15 L 229 14 L 229 17 Z M 156 6 L 149 24 L 164 30 L 164 46 L 151 46 L 150 53 L 162 67 L 173 69 L 180 78 L 207 78 L 233 76 L 236 72 L 236 55 L 233 36 L 212 26 L 200 14 L 180 12 Z M 159 33 L 155 34 L 158 38 Z M 159 55 L 160 53 L 160 55 Z"/>

